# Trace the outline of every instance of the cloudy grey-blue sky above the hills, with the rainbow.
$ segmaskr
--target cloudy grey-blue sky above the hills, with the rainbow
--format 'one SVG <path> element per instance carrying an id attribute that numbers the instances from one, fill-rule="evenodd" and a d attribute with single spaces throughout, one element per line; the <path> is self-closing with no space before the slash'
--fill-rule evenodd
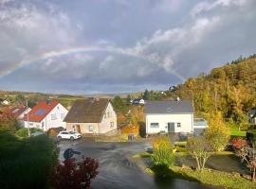
<path id="1" fill-rule="evenodd" d="M 0 90 L 167 90 L 256 53 L 255 0 L 0 0 Z"/>

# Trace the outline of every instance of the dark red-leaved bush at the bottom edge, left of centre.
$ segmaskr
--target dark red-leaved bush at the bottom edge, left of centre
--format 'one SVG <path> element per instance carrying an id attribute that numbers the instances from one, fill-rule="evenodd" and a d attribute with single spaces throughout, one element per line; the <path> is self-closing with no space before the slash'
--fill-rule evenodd
<path id="1" fill-rule="evenodd" d="M 91 180 L 98 175 L 99 162 L 82 157 L 81 162 L 68 159 L 58 163 L 52 177 L 52 186 L 56 189 L 89 189 Z"/>

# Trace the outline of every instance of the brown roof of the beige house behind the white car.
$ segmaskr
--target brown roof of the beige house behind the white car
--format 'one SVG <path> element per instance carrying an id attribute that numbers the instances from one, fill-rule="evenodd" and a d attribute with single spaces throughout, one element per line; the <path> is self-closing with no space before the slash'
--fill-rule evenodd
<path id="1" fill-rule="evenodd" d="M 64 118 L 67 123 L 101 123 L 109 99 L 88 98 L 76 100 Z"/>

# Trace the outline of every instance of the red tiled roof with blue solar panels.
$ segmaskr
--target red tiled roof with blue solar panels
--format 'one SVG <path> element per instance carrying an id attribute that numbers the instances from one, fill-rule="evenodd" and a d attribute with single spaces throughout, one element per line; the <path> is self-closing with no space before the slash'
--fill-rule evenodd
<path id="1" fill-rule="evenodd" d="M 46 101 L 38 102 L 30 112 L 28 112 L 29 122 L 41 122 L 46 115 L 59 104 L 58 100 L 53 99 L 49 103 Z M 27 114 L 24 115 L 24 121 L 27 121 Z"/>

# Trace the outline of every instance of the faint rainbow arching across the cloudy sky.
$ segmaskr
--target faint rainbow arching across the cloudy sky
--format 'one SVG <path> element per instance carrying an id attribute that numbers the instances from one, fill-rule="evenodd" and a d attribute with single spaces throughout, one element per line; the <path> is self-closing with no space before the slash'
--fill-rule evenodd
<path id="1" fill-rule="evenodd" d="M 115 53 L 115 54 L 121 54 L 121 55 L 129 56 L 129 57 L 134 57 L 134 58 L 137 58 L 140 60 L 146 60 L 151 63 L 156 62 L 155 60 L 152 60 L 148 57 L 145 57 L 145 56 L 135 53 L 133 50 L 131 50 L 129 48 L 123 49 L 123 48 L 117 48 L 117 47 L 113 47 L 113 46 L 72 47 L 72 48 L 61 49 L 59 51 L 45 52 L 37 57 L 30 58 L 29 60 L 22 60 L 18 63 L 14 63 L 14 66 L 10 67 L 8 71 L 2 71 L 2 72 L 0 71 L 0 78 L 8 76 L 11 73 L 13 73 L 14 71 L 16 71 L 26 65 L 36 63 L 38 61 L 48 60 L 48 59 L 52 59 L 52 58 L 57 58 L 57 57 L 72 55 L 72 54 L 77 54 L 77 53 L 85 53 L 85 52 L 108 52 L 108 53 Z M 182 75 L 180 75 L 176 71 L 174 71 L 173 69 L 169 69 L 168 71 L 170 73 L 174 74 L 174 76 L 178 77 L 181 81 L 184 81 L 186 79 L 185 77 L 183 77 Z"/>

